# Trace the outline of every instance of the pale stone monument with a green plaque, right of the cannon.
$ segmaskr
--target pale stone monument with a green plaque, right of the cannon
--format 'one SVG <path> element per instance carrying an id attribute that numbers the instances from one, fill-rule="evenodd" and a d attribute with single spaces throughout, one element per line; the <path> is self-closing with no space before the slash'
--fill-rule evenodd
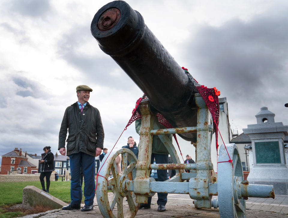
<path id="1" fill-rule="evenodd" d="M 275 123 L 275 114 L 262 107 L 255 115 L 257 124 L 248 125 L 243 132 L 252 142 L 253 167 L 247 180 L 251 184 L 273 185 L 275 194 L 288 195 L 288 169 L 284 152 L 284 137 L 288 126 Z"/>

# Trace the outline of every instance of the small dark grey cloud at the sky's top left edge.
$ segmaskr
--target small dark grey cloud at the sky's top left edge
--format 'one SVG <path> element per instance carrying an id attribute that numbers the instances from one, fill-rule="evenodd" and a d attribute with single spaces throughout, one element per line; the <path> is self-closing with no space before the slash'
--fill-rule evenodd
<path id="1" fill-rule="evenodd" d="M 42 16 L 50 10 L 49 0 L 9 1 L 10 9 L 24 16 Z"/>

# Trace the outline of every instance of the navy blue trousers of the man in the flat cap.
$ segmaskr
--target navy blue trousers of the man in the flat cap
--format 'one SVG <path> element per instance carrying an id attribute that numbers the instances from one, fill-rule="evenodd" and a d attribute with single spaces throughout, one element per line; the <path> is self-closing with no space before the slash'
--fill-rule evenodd
<path id="1" fill-rule="evenodd" d="M 81 204 L 82 187 L 80 182 L 81 168 L 84 175 L 84 196 L 85 205 L 93 205 L 95 197 L 95 157 L 83 152 L 70 154 L 71 171 L 71 203 Z"/>

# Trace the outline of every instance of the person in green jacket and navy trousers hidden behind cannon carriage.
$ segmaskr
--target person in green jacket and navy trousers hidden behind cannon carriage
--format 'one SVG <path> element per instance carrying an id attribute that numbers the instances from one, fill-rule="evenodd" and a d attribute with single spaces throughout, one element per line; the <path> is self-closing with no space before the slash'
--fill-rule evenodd
<path id="1" fill-rule="evenodd" d="M 136 132 L 139 134 L 140 132 L 140 128 L 141 128 L 141 121 L 142 119 L 138 119 L 135 121 L 135 129 Z M 162 128 L 165 128 L 164 126 L 161 125 Z M 167 135 L 168 138 L 172 141 L 172 136 Z M 168 154 L 169 152 L 167 151 L 165 145 L 163 144 L 163 142 L 161 141 L 161 139 L 159 138 L 159 136 L 153 136 L 152 138 L 152 154 L 151 154 L 151 164 L 154 163 L 154 158 L 155 158 L 155 162 L 156 164 L 160 164 L 160 163 L 168 163 Z M 150 171 L 151 174 L 152 171 Z M 157 176 L 158 176 L 158 181 L 163 182 L 165 180 L 167 180 L 167 170 L 157 170 Z M 158 195 L 158 200 L 157 200 L 157 204 L 158 204 L 158 209 L 157 211 L 166 211 L 165 205 L 167 203 L 167 193 L 157 193 Z M 151 208 L 151 200 L 152 197 L 148 198 L 148 204 L 140 204 L 139 209 L 141 208 L 145 208 L 145 209 L 149 209 Z"/>

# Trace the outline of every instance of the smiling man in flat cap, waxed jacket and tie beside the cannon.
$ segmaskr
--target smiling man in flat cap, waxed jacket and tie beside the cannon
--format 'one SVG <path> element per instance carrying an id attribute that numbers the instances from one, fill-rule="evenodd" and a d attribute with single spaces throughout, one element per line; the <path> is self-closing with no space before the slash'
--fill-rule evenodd
<path id="1" fill-rule="evenodd" d="M 81 211 L 91 211 L 95 197 L 95 157 L 103 149 L 104 130 L 98 109 L 88 103 L 92 89 L 87 85 L 78 85 L 76 92 L 78 101 L 67 107 L 59 132 L 58 150 L 65 155 L 68 129 L 67 156 L 70 158 L 71 170 L 71 203 L 62 209 L 80 209 L 82 169 L 85 205 Z"/>

